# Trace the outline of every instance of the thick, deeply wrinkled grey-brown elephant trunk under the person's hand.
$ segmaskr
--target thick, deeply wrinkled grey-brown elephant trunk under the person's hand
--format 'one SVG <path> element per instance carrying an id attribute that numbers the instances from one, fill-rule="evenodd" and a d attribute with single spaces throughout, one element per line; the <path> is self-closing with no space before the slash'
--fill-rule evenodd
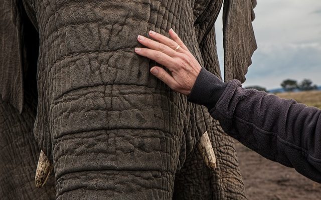
<path id="1" fill-rule="evenodd" d="M 134 47 L 138 34 L 171 26 L 197 46 L 193 18 L 184 14 L 193 10 L 177 10 L 179 3 L 39 3 L 35 136 L 53 160 L 58 199 L 172 198 L 182 145 L 191 152 L 206 129 L 195 124 L 206 119 L 200 106 L 151 75 L 156 63 Z M 163 21 L 160 8 L 171 20 Z"/>

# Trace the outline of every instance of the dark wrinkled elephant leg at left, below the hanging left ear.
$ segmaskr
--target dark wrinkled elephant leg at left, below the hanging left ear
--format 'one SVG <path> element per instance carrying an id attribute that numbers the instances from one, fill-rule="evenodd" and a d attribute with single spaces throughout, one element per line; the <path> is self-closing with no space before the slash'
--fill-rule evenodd
<path id="1" fill-rule="evenodd" d="M 55 199 L 54 176 L 41 189 L 35 186 L 40 153 L 34 138 L 36 104 L 25 98 L 22 114 L 0 98 L 0 198 Z"/>

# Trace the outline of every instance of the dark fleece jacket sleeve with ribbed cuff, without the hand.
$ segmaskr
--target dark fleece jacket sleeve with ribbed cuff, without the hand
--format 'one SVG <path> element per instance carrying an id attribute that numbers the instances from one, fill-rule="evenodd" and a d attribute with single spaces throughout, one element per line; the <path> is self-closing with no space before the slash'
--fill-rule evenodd
<path id="1" fill-rule="evenodd" d="M 321 183 L 321 110 L 202 68 L 188 100 L 208 107 L 224 131 L 264 157 Z"/>

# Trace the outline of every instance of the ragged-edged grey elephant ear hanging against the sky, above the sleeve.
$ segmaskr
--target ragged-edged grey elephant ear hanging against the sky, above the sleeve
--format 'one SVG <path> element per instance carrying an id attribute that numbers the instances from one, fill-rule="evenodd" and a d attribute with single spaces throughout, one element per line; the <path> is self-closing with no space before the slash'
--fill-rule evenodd
<path id="1" fill-rule="evenodd" d="M 224 0 L 224 80 L 245 81 L 251 56 L 257 48 L 252 21 L 256 0 Z"/>

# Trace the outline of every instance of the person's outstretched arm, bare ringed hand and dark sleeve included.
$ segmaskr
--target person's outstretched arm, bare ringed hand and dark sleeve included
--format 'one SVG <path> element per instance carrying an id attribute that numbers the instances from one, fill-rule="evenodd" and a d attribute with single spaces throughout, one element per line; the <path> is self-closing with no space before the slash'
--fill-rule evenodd
<path id="1" fill-rule="evenodd" d="M 188 95 L 191 102 L 207 106 L 225 132 L 241 143 L 268 159 L 294 167 L 310 179 L 321 182 L 319 109 L 262 91 L 244 89 L 238 80 L 224 83 L 201 68 L 190 57 L 188 50 L 182 49 L 176 53 L 173 49 L 182 43 L 175 39 L 174 32 L 170 31 L 170 35 L 176 42 L 168 44 L 170 49 L 156 41 L 138 39 L 152 48 L 142 48 L 136 51 L 138 54 L 156 60 L 172 72 L 170 75 L 157 67 L 158 73 L 155 75 L 158 78 L 172 89 Z M 151 37 L 157 39 L 155 37 L 161 36 L 156 34 Z M 163 42 L 166 44 L 167 41 Z M 154 68 L 151 68 L 152 73 Z"/>

